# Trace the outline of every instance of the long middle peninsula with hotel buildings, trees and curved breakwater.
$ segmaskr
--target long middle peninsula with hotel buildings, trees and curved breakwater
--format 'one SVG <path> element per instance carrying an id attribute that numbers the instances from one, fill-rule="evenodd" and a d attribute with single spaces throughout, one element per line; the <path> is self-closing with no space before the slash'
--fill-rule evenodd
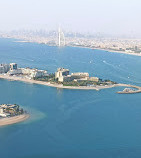
<path id="1" fill-rule="evenodd" d="M 45 70 L 18 68 L 16 63 L 1 64 L 0 78 L 41 84 L 60 89 L 101 90 L 113 87 L 129 87 L 130 89 L 117 93 L 131 94 L 141 92 L 141 87 L 139 86 L 120 84 L 109 79 L 103 80 L 98 77 L 90 77 L 87 72 L 69 74 L 69 69 L 58 68 L 57 72 L 48 74 Z"/>

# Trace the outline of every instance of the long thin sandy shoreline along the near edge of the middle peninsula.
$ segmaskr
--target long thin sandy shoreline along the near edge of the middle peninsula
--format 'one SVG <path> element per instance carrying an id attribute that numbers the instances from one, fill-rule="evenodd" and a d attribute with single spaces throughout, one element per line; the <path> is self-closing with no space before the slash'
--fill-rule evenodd
<path id="1" fill-rule="evenodd" d="M 141 93 L 141 87 L 136 86 L 136 85 L 130 85 L 130 84 L 122 84 L 122 83 L 113 84 L 113 85 L 106 85 L 106 86 L 94 86 L 94 87 L 79 86 L 79 87 L 75 87 L 75 86 L 63 86 L 62 84 L 52 84 L 50 82 L 37 81 L 37 80 L 32 80 L 32 79 L 30 80 L 30 79 L 26 79 L 26 78 L 20 78 L 20 77 L 15 77 L 15 76 L 8 76 L 8 75 L 0 75 L 0 79 L 6 79 L 9 81 L 22 81 L 22 82 L 31 83 L 31 84 L 40 84 L 40 85 L 59 88 L 59 89 L 97 90 L 97 91 L 99 91 L 101 89 L 114 88 L 114 87 L 132 87 L 132 88 L 136 88 L 137 90 L 130 92 L 130 94 Z M 117 92 L 117 93 L 123 94 L 123 92 Z"/>

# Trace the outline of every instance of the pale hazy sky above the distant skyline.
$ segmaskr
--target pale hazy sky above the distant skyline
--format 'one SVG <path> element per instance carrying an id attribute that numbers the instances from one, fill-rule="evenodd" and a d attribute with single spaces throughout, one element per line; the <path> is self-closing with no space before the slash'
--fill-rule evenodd
<path id="1" fill-rule="evenodd" d="M 0 30 L 141 34 L 141 0 L 0 0 Z"/>

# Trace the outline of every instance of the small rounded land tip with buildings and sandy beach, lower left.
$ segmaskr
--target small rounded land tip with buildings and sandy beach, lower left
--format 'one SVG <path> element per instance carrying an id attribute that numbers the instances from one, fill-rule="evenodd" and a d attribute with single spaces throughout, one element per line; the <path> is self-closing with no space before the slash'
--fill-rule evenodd
<path id="1" fill-rule="evenodd" d="M 0 105 L 0 127 L 19 123 L 29 118 L 29 114 L 17 104 Z"/>

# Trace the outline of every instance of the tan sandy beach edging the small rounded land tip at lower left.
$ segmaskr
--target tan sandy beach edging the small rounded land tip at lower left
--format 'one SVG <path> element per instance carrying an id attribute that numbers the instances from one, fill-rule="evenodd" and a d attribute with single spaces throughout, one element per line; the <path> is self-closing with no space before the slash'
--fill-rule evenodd
<path id="1" fill-rule="evenodd" d="M 1 118 L 0 127 L 23 122 L 27 120 L 29 117 L 30 117 L 29 114 L 22 114 L 18 116 L 9 117 L 9 118 Z"/>

